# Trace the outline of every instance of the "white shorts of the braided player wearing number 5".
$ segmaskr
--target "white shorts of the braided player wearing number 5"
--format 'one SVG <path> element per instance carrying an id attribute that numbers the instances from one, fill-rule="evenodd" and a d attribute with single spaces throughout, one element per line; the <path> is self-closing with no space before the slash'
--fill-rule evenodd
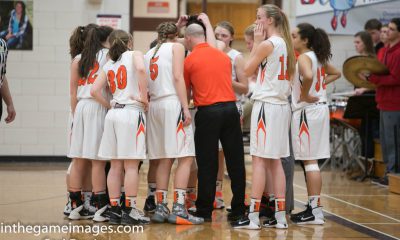
<path id="1" fill-rule="evenodd" d="M 195 156 L 191 125 L 183 127 L 183 112 L 177 97 L 151 101 L 147 113 L 149 159 Z"/>

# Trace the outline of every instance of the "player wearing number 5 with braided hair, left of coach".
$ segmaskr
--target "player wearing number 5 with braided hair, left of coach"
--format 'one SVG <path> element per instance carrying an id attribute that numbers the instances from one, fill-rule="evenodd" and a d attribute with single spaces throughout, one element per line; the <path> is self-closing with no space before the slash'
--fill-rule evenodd
<path id="1" fill-rule="evenodd" d="M 158 160 L 157 207 L 154 222 L 168 220 L 175 224 L 201 224 L 185 208 L 190 167 L 195 156 L 191 115 L 183 79 L 185 48 L 177 43 L 178 28 L 165 22 L 157 27 L 158 43 L 145 55 L 148 71 L 150 105 L 148 112 L 147 146 L 150 161 Z M 169 176 L 174 159 L 178 167 L 174 180 L 174 203 L 168 209 Z"/>

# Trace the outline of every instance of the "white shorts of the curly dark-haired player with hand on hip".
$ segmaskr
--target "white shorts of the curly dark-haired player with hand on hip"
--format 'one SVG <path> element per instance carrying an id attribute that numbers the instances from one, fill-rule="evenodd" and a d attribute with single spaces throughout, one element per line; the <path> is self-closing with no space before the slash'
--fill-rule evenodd
<path id="1" fill-rule="evenodd" d="M 296 160 L 330 157 L 327 105 L 312 105 L 293 112 L 292 144 Z"/>

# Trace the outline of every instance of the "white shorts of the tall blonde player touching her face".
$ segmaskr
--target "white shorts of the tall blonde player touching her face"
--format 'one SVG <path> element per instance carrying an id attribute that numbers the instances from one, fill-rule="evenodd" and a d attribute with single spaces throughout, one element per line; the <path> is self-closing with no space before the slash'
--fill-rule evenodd
<path id="1" fill-rule="evenodd" d="M 290 106 L 255 101 L 251 112 L 250 155 L 281 159 L 290 156 Z"/>

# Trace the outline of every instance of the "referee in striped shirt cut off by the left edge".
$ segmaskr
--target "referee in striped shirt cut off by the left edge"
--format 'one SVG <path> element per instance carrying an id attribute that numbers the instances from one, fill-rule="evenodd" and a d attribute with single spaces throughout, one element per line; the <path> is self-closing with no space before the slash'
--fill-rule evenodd
<path id="1" fill-rule="evenodd" d="M 7 105 L 8 113 L 5 121 L 6 123 L 10 123 L 15 119 L 15 109 L 6 77 L 7 54 L 7 44 L 3 39 L 0 38 L 0 120 L 3 113 L 4 100 Z"/>

